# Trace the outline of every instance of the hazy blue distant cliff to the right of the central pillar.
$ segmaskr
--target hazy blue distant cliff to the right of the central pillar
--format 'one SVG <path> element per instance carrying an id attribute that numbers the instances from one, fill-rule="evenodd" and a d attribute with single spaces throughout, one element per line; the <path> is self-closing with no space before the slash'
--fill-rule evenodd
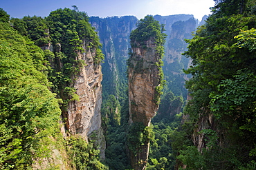
<path id="1" fill-rule="evenodd" d="M 190 59 L 182 55 L 188 45 L 184 39 L 192 38 L 192 32 L 198 26 L 197 22 L 191 17 L 187 20 L 175 21 L 165 28 L 168 36 L 165 43 L 163 72 L 168 82 L 168 89 L 171 89 L 176 96 L 183 96 L 183 98 L 186 98 L 188 93 L 184 87 L 184 79 L 189 78 L 189 75 L 183 73 L 183 69 L 187 69 L 191 63 Z"/>

